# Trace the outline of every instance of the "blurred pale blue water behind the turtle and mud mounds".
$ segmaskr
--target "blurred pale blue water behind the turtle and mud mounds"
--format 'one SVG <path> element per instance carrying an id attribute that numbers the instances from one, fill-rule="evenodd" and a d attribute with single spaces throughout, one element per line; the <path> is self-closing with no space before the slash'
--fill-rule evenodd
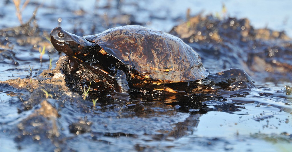
<path id="1" fill-rule="evenodd" d="M 168 32 L 173 26 L 186 21 L 187 14 L 194 16 L 201 13 L 248 18 L 255 28 L 285 30 L 292 36 L 290 0 L 30 0 L 24 8 L 22 4 L 25 0 L 20 3 L 23 22 L 29 20 L 35 8 L 39 7 L 36 18 L 42 29 L 52 29 L 58 25 L 65 29 L 77 28 L 76 26 L 90 29 L 98 25 L 97 22 L 105 22 L 105 26 L 124 22 L 142 24 Z M 0 7 L 1 29 L 20 24 L 12 0 L 1 1 Z M 58 19 L 61 24 L 58 24 Z"/>

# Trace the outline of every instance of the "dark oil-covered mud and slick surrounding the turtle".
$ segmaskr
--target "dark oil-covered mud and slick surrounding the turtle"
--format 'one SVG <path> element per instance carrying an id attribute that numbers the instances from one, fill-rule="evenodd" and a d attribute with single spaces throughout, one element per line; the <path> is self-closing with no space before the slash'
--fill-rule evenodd
<path id="1" fill-rule="evenodd" d="M 0 4 L 6 21 L 0 23 L 0 151 L 291 150 L 292 47 L 285 32 L 256 29 L 248 19 L 178 19 L 151 12 L 145 2 L 92 2 L 93 13 L 62 3 L 30 1 L 27 9 L 38 9 L 23 13 L 21 26 L 9 24 L 13 3 Z M 201 56 L 210 75 L 166 84 L 179 93 L 109 93 L 113 80 L 58 53 L 48 40 L 55 26 L 82 36 L 183 19 L 169 33 Z"/>

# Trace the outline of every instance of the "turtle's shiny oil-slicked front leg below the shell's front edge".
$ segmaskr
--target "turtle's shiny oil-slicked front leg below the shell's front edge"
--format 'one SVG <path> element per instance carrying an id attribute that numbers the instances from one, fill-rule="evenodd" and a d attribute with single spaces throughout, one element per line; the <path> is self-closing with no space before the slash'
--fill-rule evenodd
<path id="1" fill-rule="evenodd" d="M 118 93 L 129 93 L 126 73 L 123 70 L 117 69 L 114 74 L 114 88 Z"/>

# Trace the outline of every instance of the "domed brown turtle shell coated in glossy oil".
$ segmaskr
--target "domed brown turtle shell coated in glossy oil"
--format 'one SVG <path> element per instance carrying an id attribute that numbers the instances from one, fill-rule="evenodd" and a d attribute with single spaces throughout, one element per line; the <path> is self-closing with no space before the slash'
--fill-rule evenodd
<path id="1" fill-rule="evenodd" d="M 209 72 L 201 58 L 180 38 L 163 31 L 128 25 L 84 36 L 129 69 L 131 78 L 157 83 L 204 79 Z"/>

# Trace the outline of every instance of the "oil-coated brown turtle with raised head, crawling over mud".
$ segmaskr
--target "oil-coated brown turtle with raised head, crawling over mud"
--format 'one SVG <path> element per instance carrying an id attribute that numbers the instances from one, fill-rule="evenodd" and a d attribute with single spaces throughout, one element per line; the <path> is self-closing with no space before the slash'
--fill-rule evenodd
<path id="1" fill-rule="evenodd" d="M 209 75 L 199 54 L 182 39 L 139 25 L 83 37 L 56 27 L 51 31 L 51 43 L 58 52 L 92 67 L 94 73 L 112 77 L 115 92 L 152 86 L 176 93 L 163 84 L 192 82 Z"/>

